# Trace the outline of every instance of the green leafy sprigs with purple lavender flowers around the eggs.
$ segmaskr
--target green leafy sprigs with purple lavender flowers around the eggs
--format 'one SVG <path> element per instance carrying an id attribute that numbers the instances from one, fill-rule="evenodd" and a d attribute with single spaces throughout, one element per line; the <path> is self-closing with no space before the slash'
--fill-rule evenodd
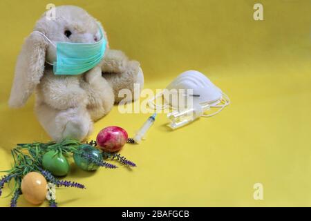
<path id="1" fill-rule="evenodd" d="M 11 151 L 11 155 L 13 158 L 12 169 L 7 171 L 0 171 L 7 173 L 7 175 L 0 177 L 0 196 L 4 184 L 10 184 L 12 180 L 15 180 L 15 185 L 9 195 L 12 195 L 10 205 L 17 206 L 17 200 L 19 198 L 19 195 L 21 194 L 21 180 L 25 175 L 30 172 L 41 173 L 42 175 L 44 175 L 44 177 L 46 177 L 49 182 L 53 182 L 57 186 L 76 187 L 79 189 L 84 189 L 85 186 L 83 184 L 78 184 L 76 182 L 70 182 L 66 180 L 58 180 L 50 172 L 44 171 L 42 167 L 42 158 L 44 154 L 48 153 L 48 151 L 55 151 L 55 155 L 60 153 L 65 157 L 72 157 L 75 153 L 82 153 L 79 149 L 79 146 L 81 145 L 85 144 L 73 139 L 65 139 L 59 143 L 34 142 L 32 144 L 17 144 L 17 146 Z M 96 146 L 96 142 L 91 142 L 88 145 Z M 113 164 L 105 162 L 106 160 L 117 160 L 125 166 L 136 166 L 136 164 L 129 160 L 126 160 L 125 157 L 117 153 L 107 153 L 102 151 L 102 158 L 102 162 L 98 162 L 98 164 L 100 164 L 100 166 L 104 165 L 104 167 L 106 168 L 116 167 Z M 49 204 L 50 206 L 57 206 L 57 203 L 54 200 L 50 200 Z"/>

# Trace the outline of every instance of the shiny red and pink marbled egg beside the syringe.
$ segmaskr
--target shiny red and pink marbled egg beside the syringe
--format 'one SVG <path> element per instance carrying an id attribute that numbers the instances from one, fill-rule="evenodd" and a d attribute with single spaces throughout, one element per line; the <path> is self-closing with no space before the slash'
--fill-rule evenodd
<path id="1" fill-rule="evenodd" d="M 98 133 L 96 142 L 103 151 L 116 152 L 121 150 L 128 138 L 123 128 L 108 126 Z"/>

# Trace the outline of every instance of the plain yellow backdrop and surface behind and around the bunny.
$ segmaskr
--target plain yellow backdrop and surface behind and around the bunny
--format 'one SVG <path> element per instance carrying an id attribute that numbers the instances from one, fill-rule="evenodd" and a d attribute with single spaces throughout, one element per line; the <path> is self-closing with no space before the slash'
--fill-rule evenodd
<path id="1" fill-rule="evenodd" d="M 311 206 L 308 0 L 1 0 L 0 170 L 10 168 L 16 143 L 49 140 L 32 112 L 34 96 L 19 110 L 7 100 L 23 39 L 51 2 L 102 21 L 111 48 L 140 61 L 145 88 L 194 69 L 232 99 L 219 115 L 173 132 L 160 115 L 145 142 L 124 146 L 138 164 L 132 171 L 73 167 L 66 179 L 87 189 L 59 189 L 59 206 Z M 263 3 L 264 21 L 254 21 L 254 3 Z M 133 135 L 147 117 L 115 106 L 90 139 L 111 125 Z M 257 182 L 264 200 L 253 199 Z M 30 205 L 21 197 L 19 206 Z"/>

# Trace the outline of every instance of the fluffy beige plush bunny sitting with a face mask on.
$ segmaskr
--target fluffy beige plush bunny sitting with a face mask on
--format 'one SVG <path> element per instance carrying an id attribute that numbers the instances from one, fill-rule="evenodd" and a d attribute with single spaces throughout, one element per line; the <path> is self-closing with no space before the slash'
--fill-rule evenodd
<path id="1" fill-rule="evenodd" d="M 55 14 L 55 19 L 44 14 L 26 39 L 17 59 L 9 105 L 23 106 L 36 90 L 35 113 L 50 137 L 55 141 L 65 137 L 84 140 L 93 122 L 123 99 L 118 97 L 119 90 L 127 88 L 133 93 L 134 84 L 140 84 L 141 90 L 144 77 L 138 61 L 130 61 L 120 50 L 109 49 L 102 25 L 85 10 L 59 6 Z M 53 65 L 59 59 L 56 45 L 60 48 L 57 43 L 93 46 L 101 39 L 106 42 L 101 50 L 104 57 L 93 68 L 78 75 L 55 75 Z M 82 56 L 87 53 L 88 48 Z M 138 96 L 134 93 L 129 99 Z"/>

